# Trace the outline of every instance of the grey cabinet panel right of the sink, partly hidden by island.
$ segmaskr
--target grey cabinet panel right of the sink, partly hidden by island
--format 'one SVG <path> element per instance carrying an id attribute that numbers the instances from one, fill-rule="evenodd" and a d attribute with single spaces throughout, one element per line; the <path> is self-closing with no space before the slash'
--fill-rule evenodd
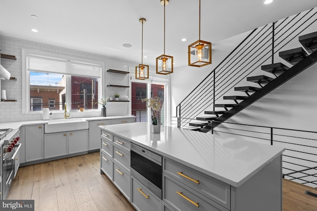
<path id="1" fill-rule="evenodd" d="M 110 120 L 89 121 L 89 150 L 100 149 L 99 126 L 111 125 Z"/>

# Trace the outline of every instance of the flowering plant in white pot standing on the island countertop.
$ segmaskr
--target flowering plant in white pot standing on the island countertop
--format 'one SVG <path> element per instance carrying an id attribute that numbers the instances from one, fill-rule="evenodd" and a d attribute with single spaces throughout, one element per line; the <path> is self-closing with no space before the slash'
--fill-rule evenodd
<path id="1" fill-rule="evenodd" d="M 150 126 L 150 130 L 152 133 L 159 133 L 160 132 L 160 125 L 158 125 L 158 118 L 157 118 L 157 112 L 160 109 L 160 99 L 159 97 L 151 97 L 150 99 L 144 98 L 141 99 L 142 102 L 146 102 L 146 105 L 148 108 L 151 108 L 153 110 L 152 114 L 152 125 Z"/>

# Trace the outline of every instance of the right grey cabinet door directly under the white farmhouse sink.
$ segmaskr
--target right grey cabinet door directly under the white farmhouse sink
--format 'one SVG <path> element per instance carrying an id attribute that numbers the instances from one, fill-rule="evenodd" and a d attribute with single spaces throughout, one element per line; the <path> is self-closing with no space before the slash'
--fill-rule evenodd
<path id="1" fill-rule="evenodd" d="M 68 132 L 68 154 L 85 151 L 88 151 L 88 130 Z"/>

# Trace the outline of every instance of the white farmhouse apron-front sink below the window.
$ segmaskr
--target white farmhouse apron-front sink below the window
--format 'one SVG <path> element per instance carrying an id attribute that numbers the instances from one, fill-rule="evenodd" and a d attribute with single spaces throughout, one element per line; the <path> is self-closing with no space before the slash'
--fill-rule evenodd
<path id="1" fill-rule="evenodd" d="M 44 126 L 45 133 L 67 132 L 89 128 L 89 122 L 82 118 L 49 120 Z"/>

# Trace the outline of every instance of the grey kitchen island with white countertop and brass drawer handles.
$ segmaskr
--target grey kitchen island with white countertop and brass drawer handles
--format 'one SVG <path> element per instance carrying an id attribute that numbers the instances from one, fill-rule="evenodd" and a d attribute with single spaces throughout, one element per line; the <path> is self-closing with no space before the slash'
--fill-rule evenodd
<path id="1" fill-rule="evenodd" d="M 100 128 L 101 145 L 112 147 L 108 151 L 101 147 L 101 172 L 114 182 L 116 170 L 125 170 L 125 176 L 131 179 L 124 185 L 130 188 L 123 189 L 118 182 L 114 184 L 137 210 L 145 210 L 146 206 L 142 206 L 149 200 L 146 197 L 143 204 L 138 202 L 132 184 L 140 185 L 146 196 L 155 199 L 151 203 L 157 205 L 156 210 L 282 210 L 283 148 L 176 127 L 162 126 L 160 133 L 153 134 L 147 123 Z M 117 149 L 122 148 L 125 157 L 130 159 L 131 143 L 162 156 L 162 199 L 142 186 L 142 182 L 134 182 L 130 163 L 122 164 L 115 158 Z M 103 166 L 106 165 L 103 159 L 110 162 L 108 168 Z M 199 179 L 193 182 L 192 177 Z M 173 187 L 175 191 L 171 190 Z M 151 203 L 149 206 L 155 207 Z"/>

